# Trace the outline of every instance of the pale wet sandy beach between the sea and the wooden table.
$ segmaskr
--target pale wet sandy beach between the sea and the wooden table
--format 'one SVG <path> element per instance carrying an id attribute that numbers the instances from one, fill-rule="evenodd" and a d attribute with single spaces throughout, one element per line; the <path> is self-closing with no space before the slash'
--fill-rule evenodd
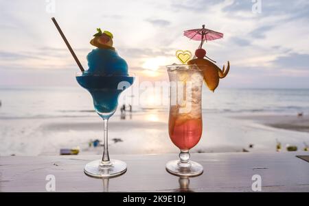
<path id="1" fill-rule="evenodd" d="M 203 114 L 203 136 L 192 153 L 275 151 L 276 140 L 304 149 L 309 144 L 309 118 L 282 115 Z M 57 155 L 61 148 L 80 146 L 80 154 L 101 154 L 102 120 L 89 117 L 0 120 L 0 155 Z M 168 136 L 168 112 L 136 112 L 109 121 L 111 154 L 178 153 Z M 253 144 L 249 147 L 249 144 Z M 285 151 L 283 149 L 282 151 Z"/>

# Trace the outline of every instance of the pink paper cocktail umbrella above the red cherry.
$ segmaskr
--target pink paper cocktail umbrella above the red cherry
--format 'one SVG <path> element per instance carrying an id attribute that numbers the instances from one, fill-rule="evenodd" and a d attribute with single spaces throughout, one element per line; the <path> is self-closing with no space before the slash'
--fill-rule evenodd
<path id="1" fill-rule="evenodd" d="M 203 27 L 200 29 L 190 29 L 190 30 L 183 31 L 183 35 L 187 36 L 187 38 L 190 38 L 192 40 L 201 41 L 201 44 L 198 47 L 199 49 L 202 48 L 204 42 L 207 40 L 211 41 L 211 40 L 223 38 L 222 33 L 218 31 L 213 31 L 211 29 L 206 29 L 205 25 L 203 25 Z M 211 60 L 211 61 L 214 61 L 214 60 Z"/>

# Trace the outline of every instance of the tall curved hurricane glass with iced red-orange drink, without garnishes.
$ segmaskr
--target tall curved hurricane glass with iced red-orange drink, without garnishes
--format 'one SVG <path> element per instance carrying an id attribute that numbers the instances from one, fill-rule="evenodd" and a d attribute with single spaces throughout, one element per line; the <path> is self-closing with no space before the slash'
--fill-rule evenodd
<path id="1" fill-rule="evenodd" d="M 202 136 L 201 96 L 203 76 L 196 65 L 171 65 L 170 116 L 168 132 L 172 142 L 180 149 L 179 160 L 166 164 L 166 170 L 180 177 L 194 177 L 203 173 L 203 166 L 190 160 L 189 150 Z"/>

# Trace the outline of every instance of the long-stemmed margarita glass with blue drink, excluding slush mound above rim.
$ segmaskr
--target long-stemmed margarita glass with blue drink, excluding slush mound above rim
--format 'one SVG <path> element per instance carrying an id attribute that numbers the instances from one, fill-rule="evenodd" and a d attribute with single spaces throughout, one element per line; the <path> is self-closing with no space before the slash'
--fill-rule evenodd
<path id="1" fill-rule="evenodd" d="M 84 172 L 91 177 L 115 177 L 126 172 L 126 163 L 109 159 L 108 155 L 108 118 L 116 111 L 119 94 L 132 85 L 134 77 L 124 75 L 76 73 L 76 80 L 88 90 L 93 98 L 95 112 L 104 122 L 104 149 L 102 159 L 89 162 Z"/>

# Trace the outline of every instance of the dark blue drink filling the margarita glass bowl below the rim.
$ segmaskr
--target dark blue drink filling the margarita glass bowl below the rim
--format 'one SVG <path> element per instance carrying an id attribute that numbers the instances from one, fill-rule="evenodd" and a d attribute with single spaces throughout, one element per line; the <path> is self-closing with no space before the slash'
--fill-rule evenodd
<path id="1" fill-rule="evenodd" d="M 132 85 L 134 77 L 80 75 L 76 80 L 90 92 L 95 111 L 109 118 L 117 109 L 119 94 Z"/>

